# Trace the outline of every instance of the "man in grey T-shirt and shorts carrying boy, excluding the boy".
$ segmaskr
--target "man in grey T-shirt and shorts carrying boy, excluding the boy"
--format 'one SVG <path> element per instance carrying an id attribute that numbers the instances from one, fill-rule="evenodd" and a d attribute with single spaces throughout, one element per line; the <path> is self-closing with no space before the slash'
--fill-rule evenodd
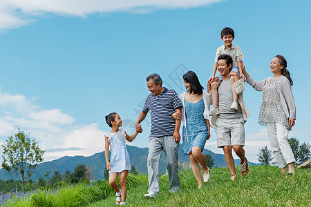
<path id="1" fill-rule="evenodd" d="M 241 175 L 245 176 L 249 172 L 245 151 L 243 149 L 245 144 L 244 123 L 249 113 L 245 107 L 243 97 L 240 97 L 244 90 L 244 81 L 243 79 L 239 79 L 234 83 L 234 90 L 239 95 L 238 110 L 230 110 L 229 106 L 233 101 L 232 83 L 229 74 L 232 68 L 232 57 L 229 55 L 220 55 L 218 57 L 217 68 L 220 75 L 223 76 L 223 81 L 221 81 L 218 86 L 218 106 L 220 113 L 212 116 L 211 124 L 216 128 L 217 147 L 223 148 L 225 160 L 231 172 L 231 179 L 236 181 L 232 148 L 241 159 Z M 236 76 L 238 75 L 236 74 Z M 207 92 L 211 91 L 211 83 L 215 81 L 218 81 L 218 77 L 207 82 Z"/>

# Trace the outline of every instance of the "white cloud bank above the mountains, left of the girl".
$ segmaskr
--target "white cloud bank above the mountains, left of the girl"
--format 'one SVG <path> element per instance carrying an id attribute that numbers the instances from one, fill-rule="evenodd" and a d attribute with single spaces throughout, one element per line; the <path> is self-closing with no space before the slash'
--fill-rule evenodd
<path id="1" fill-rule="evenodd" d="M 17 133 L 19 127 L 46 150 L 45 161 L 65 155 L 90 156 L 104 150 L 104 132 L 98 124 L 79 125 L 62 110 L 40 109 L 34 101 L 0 92 L 0 143 Z"/>

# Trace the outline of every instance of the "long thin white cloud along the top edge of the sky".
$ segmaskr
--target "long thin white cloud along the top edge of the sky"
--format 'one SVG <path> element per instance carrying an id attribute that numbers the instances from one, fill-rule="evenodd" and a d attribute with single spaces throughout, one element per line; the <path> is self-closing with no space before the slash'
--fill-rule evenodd
<path id="1" fill-rule="evenodd" d="M 1 0 L 0 29 L 26 26 L 44 14 L 88 17 L 111 12 L 147 13 L 160 9 L 196 8 L 222 0 Z"/>

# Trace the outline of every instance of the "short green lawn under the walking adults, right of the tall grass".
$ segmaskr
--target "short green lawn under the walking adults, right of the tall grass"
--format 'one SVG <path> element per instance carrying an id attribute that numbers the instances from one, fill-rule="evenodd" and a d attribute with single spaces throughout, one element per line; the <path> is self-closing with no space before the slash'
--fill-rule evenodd
<path id="1" fill-rule="evenodd" d="M 238 172 L 240 168 L 236 168 Z M 247 177 L 229 179 L 227 168 L 211 170 L 211 178 L 201 189 L 191 170 L 180 172 L 178 193 L 169 193 L 169 179 L 160 179 L 160 195 L 147 193 L 147 177 L 142 184 L 128 190 L 126 206 L 311 206 L 311 169 L 296 169 L 296 175 L 282 175 L 271 166 L 251 166 Z M 97 201 L 88 207 L 115 206 L 115 196 Z"/>

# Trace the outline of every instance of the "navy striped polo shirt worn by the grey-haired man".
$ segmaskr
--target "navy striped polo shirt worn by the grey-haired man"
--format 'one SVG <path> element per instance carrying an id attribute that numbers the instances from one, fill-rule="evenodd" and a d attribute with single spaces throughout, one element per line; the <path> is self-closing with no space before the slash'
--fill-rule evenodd
<path id="1" fill-rule="evenodd" d="M 175 90 L 164 88 L 158 96 L 148 95 L 142 111 L 151 110 L 150 137 L 173 136 L 175 119 L 171 115 L 177 108 L 182 108 L 182 103 Z"/>

